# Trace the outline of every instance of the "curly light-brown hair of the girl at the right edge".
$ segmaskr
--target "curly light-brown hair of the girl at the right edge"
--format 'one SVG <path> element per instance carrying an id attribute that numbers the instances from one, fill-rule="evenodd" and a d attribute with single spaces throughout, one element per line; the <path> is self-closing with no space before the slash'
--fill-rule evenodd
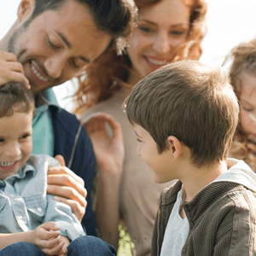
<path id="1" fill-rule="evenodd" d="M 224 64 L 230 60 L 233 60 L 230 67 L 230 83 L 237 98 L 240 99 L 243 75 L 247 73 L 256 77 L 256 38 L 232 49 Z M 237 125 L 234 141 L 230 148 L 230 156 L 244 160 L 256 172 L 255 137 L 247 135 L 240 122 Z"/>

